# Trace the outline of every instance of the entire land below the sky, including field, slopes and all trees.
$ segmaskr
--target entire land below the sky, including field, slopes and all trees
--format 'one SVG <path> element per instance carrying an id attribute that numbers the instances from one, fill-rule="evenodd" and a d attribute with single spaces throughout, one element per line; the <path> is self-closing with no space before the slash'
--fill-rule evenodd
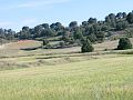
<path id="1" fill-rule="evenodd" d="M 0 100 L 133 100 L 132 44 L 133 11 L 0 29 Z"/>

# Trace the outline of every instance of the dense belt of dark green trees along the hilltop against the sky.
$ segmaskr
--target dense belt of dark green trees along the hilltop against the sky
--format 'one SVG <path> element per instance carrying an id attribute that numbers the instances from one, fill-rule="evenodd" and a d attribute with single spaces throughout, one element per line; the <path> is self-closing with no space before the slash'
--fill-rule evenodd
<path id="1" fill-rule="evenodd" d="M 133 37 L 133 11 L 116 14 L 110 13 L 103 21 L 90 18 L 80 26 L 76 21 L 70 22 L 69 27 L 61 22 L 52 24 L 42 23 L 34 28 L 23 27 L 19 32 L 11 29 L 0 29 L 0 41 L 4 40 L 44 40 L 59 37 L 62 46 L 83 44 L 89 40 L 92 43 L 103 42 L 104 39 L 113 36 L 116 31 L 123 31 L 127 37 Z"/>

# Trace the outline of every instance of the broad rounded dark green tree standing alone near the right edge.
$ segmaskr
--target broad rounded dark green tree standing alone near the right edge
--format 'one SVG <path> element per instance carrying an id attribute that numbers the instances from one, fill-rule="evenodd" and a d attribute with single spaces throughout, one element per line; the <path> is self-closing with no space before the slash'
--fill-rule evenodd
<path id="1" fill-rule="evenodd" d="M 119 41 L 117 50 L 132 49 L 132 43 L 129 38 L 121 38 Z"/>

